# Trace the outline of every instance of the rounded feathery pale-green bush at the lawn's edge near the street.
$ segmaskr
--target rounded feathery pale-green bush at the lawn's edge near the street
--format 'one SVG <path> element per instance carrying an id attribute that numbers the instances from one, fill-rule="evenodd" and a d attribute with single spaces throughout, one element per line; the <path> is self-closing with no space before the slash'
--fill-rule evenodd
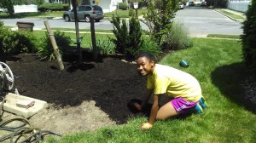
<path id="1" fill-rule="evenodd" d="M 173 22 L 171 30 L 165 36 L 164 49 L 186 49 L 191 47 L 192 41 L 188 29 L 181 22 Z"/>

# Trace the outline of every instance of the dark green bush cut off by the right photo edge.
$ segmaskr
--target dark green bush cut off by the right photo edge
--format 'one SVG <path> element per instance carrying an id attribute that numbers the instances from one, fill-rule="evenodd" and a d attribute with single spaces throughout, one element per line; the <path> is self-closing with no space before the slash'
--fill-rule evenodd
<path id="1" fill-rule="evenodd" d="M 242 23 L 241 35 L 243 59 L 249 72 L 256 73 L 256 1 L 248 7 L 247 19 Z M 255 74 L 256 75 L 256 74 Z"/>

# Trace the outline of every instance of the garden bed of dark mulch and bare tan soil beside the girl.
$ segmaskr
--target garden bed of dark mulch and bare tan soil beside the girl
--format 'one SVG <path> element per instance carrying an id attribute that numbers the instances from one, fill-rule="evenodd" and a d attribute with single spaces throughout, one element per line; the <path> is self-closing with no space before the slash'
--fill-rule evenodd
<path id="1" fill-rule="evenodd" d="M 131 99 L 141 99 L 146 79 L 139 76 L 134 62 L 119 57 L 83 54 L 82 64 L 63 60 L 59 70 L 55 60 L 42 61 L 36 54 L 0 57 L 15 76 L 21 95 L 44 100 L 47 109 L 29 118 L 33 127 L 69 134 L 126 123 L 133 114 L 127 108 Z M 4 116 L 12 116 L 5 112 Z"/>

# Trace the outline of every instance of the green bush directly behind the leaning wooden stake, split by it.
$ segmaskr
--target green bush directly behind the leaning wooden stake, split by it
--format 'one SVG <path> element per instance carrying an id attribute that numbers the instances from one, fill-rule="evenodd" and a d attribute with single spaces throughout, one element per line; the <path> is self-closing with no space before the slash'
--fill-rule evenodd
<path id="1" fill-rule="evenodd" d="M 66 36 L 63 31 L 55 31 L 54 35 L 61 56 L 63 58 L 67 57 L 69 55 L 71 37 Z M 54 49 L 47 32 L 45 32 L 45 37 L 42 38 L 38 47 L 38 56 L 41 60 L 55 60 Z"/>

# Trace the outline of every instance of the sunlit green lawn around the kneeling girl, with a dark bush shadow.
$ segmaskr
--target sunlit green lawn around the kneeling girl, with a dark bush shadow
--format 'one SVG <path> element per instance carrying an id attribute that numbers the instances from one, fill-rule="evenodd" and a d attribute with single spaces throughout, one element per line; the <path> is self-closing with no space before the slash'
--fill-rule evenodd
<path id="1" fill-rule="evenodd" d="M 154 128 L 140 131 L 146 117 L 132 117 L 124 125 L 96 131 L 66 134 L 60 140 L 45 142 L 253 142 L 256 140 L 256 115 L 241 102 L 241 80 L 245 69 L 241 42 L 237 40 L 192 38 L 194 46 L 167 54 L 161 64 L 189 72 L 201 83 L 208 109 L 202 115 L 185 119 L 157 121 Z M 182 59 L 189 67 L 179 66 Z M 253 106 L 251 106 L 253 107 Z"/>

